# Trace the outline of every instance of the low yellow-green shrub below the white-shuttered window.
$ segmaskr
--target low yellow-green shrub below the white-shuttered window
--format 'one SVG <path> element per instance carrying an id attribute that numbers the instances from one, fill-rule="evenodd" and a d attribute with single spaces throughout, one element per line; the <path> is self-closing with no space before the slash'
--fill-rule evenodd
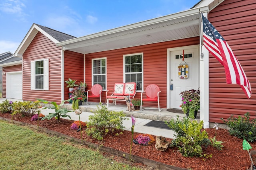
<path id="1" fill-rule="evenodd" d="M 33 116 L 34 113 L 37 111 L 39 106 L 39 102 L 31 102 L 31 101 L 24 101 L 24 102 L 14 102 L 12 104 L 13 113 L 12 114 L 22 114 L 24 116 Z"/>

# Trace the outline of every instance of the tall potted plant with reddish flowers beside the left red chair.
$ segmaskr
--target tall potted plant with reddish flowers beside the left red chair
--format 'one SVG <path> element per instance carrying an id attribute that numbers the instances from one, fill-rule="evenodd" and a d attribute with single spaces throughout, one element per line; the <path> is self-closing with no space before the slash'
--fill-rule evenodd
<path id="1" fill-rule="evenodd" d="M 70 95 L 70 98 L 72 98 L 72 109 L 76 110 L 78 109 L 78 106 L 82 105 L 84 100 L 86 99 L 86 96 L 84 95 L 84 87 L 76 87 L 74 88 L 74 91 L 72 95 Z"/>

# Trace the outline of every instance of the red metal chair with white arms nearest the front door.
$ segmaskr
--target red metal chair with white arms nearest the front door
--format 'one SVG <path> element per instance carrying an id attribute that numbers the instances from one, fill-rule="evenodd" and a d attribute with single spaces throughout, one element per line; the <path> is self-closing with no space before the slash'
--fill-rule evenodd
<path id="1" fill-rule="evenodd" d="M 158 109 L 158 111 L 160 112 L 162 109 L 160 109 L 160 105 L 159 105 L 159 93 L 160 93 L 160 88 L 158 87 L 158 85 L 156 84 L 150 84 L 146 87 L 146 90 L 144 92 L 141 92 L 141 98 L 140 98 L 140 110 L 144 110 L 144 109 Z M 146 94 L 146 98 L 142 98 L 143 97 L 143 93 Z M 158 102 L 158 108 L 155 107 L 148 107 L 148 108 L 144 108 L 142 109 L 142 101 L 143 102 Z"/>

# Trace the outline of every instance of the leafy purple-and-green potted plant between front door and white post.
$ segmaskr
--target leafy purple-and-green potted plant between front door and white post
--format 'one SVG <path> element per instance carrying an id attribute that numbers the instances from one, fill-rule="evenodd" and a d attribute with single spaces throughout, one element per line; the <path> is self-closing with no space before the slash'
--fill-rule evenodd
<path id="1" fill-rule="evenodd" d="M 186 113 L 187 117 L 194 119 L 200 109 L 200 90 L 185 90 L 180 93 L 183 113 Z"/>

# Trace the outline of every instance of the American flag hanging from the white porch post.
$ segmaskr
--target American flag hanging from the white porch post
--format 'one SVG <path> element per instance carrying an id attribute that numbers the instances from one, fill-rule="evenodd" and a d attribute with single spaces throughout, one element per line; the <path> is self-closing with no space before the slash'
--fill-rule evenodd
<path id="1" fill-rule="evenodd" d="M 247 98 L 251 97 L 251 85 L 242 66 L 225 39 L 202 14 L 204 47 L 224 66 L 226 82 L 239 84 Z"/>

